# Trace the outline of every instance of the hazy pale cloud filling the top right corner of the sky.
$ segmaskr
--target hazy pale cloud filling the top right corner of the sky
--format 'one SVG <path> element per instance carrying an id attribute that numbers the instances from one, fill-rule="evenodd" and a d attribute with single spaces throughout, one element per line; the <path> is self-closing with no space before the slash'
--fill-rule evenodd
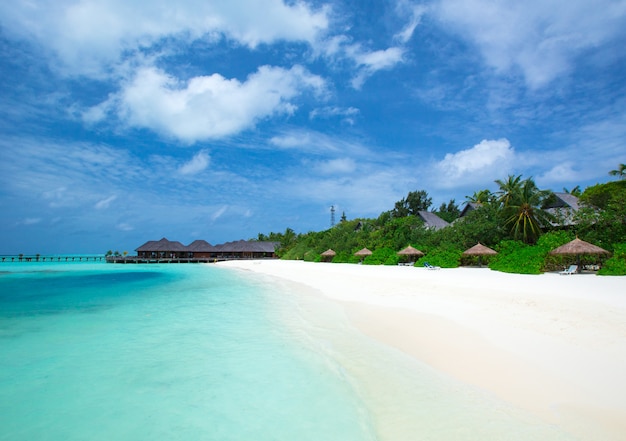
<path id="1" fill-rule="evenodd" d="M 532 88 L 567 74 L 577 56 L 623 38 L 626 29 L 623 1 L 440 0 L 434 11 L 489 66 L 499 73 L 520 69 Z"/>

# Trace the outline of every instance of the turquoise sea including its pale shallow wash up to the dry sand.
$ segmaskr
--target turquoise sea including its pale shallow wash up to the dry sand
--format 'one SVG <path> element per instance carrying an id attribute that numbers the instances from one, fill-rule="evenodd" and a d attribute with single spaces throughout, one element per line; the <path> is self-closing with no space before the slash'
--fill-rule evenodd
<path id="1" fill-rule="evenodd" d="M 215 265 L 0 265 L 0 440 L 571 439 Z"/>

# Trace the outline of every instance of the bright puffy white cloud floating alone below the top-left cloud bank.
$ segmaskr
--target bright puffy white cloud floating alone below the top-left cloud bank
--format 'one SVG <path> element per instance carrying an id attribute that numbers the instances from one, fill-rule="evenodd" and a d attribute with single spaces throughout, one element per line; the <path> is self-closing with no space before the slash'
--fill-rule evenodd
<path id="1" fill-rule="evenodd" d="M 107 106 L 117 109 L 129 126 L 194 143 L 236 134 L 264 118 L 291 114 L 296 109 L 294 98 L 307 90 L 322 93 L 324 87 L 322 78 L 301 66 L 289 70 L 261 66 L 245 82 L 219 74 L 181 82 L 145 67 L 109 98 Z"/>

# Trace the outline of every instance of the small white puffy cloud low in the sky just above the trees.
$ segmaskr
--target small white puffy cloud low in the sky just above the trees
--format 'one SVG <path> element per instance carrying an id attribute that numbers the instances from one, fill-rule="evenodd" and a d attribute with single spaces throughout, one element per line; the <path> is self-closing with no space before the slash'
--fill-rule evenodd
<path id="1" fill-rule="evenodd" d="M 483 140 L 457 153 L 448 153 L 436 164 L 438 185 L 443 188 L 492 181 L 511 167 L 515 152 L 506 139 Z"/>

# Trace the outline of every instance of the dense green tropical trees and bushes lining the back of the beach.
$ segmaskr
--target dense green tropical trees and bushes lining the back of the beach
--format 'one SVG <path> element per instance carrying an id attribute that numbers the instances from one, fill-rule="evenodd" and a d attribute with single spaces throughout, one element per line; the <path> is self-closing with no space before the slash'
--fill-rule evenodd
<path id="1" fill-rule="evenodd" d="M 425 190 L 417 190 L 377 218 L 350 220 L 344 212 L 340 222 L 328 230 L 298 234 L 287 228 L 282 233 L 259 234 L 257 239 L 279 242 L 279 256 L 291 260 L 321 261 L 321 254 L 332 249 L 335 263 L 397 265 L 406 260 L 397 252 L 411 245 L 425 253 L 416 266 L 425 262 L 442 268 L 486 264 L 497 271 L 540 274 L 561 270 L 580 259 L 582 265 L 599 265 L 598 274 L 626 275 L 624 165 L 610 174 L 619 179 L 584 191 L 579 186 L 564 189 L 579 198 L 579 209 L 571 212 L 550 209 L 557 198 L 552 191 L 540 189 L 532 177 L 510 175 L 494 181 L 498 185 L 494 193 L 485 189 L 466 196 L 471 209 L 463 216 L 454 199 L 430 211 L 450 223 L 445 228 L 425 224 L 422 215 L 431 209 L 432 199 Z M 576 237 L 611 254 L 550 254 Z M 498 254 L 463 255 L 479 242 Z M 365 259 L 354 256 L 362 248 L 370 249 L 372 255 Z"/>

